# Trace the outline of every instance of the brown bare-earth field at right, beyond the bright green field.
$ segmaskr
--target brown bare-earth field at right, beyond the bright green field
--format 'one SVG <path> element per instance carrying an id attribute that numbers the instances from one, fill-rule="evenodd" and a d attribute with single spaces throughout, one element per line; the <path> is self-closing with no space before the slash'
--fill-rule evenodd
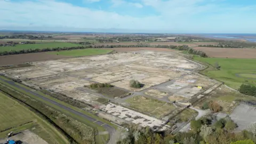
<path id="1" fill-rule="evenodd" d="M 194 47 L 205 52 L 209 57 L 215 58 L 256 58 L 256 49 Z"/>

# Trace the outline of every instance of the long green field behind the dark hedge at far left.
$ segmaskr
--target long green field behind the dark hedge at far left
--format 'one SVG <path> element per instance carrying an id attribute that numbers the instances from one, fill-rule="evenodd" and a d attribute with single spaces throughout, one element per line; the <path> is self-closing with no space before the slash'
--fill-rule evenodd
<path id="1" fill-rule="evenodd" d="M 18 44 L 15 46 L 4 46 L 0 47 L 0 52 L 3 51 L 20 51 L 27 49 L 45 49 L 45 48 L 55 48 L 55 47 L 72 47 L 72 46 L 83 46 L 73 43 L 43 43 L 43 44 Z"/>

